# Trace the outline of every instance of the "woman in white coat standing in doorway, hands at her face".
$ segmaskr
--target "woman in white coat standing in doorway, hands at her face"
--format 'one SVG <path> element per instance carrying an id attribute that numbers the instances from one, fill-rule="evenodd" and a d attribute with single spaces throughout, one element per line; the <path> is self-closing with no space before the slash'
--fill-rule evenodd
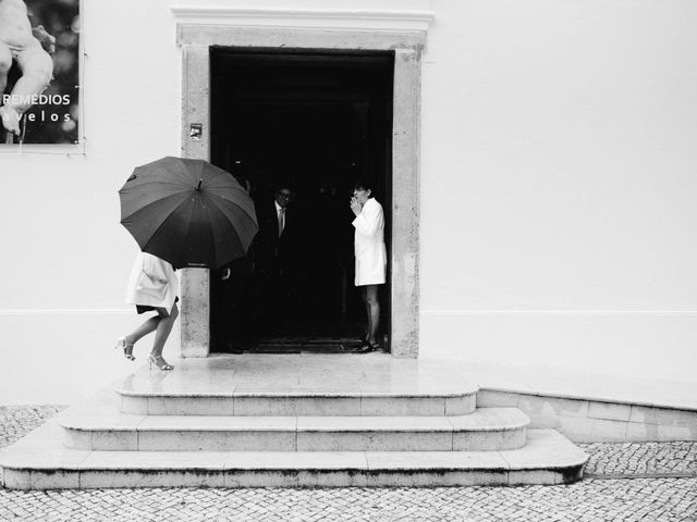
<path id="1" fill-rule="evenodd" d="M 351 210 L 356 216 L 353 220 L 353 226 L 356 229 L 354 239 L 355 285 L 362 287 L 368 315 L 366 338 L 358 351 L 366 353 L 379 348 L 376 337 L 378 326 L 380 326 L 378 287 L 384 284 L 388 258 L 384 248 L 384 213 L 382 206 L 372 197 L 372 188 L 367 183 L 354 186 Z"/>

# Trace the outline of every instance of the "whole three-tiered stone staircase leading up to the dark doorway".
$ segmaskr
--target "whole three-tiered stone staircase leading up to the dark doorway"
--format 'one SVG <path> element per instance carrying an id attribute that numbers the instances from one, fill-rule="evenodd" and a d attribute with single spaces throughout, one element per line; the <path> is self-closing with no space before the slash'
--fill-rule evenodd
<path id="1" fill-rule="evenodd" d="M 455 369 L 242 355 L 140 369 L 0 452 L 11 488 L 565 484 L 587 456 Z"/>

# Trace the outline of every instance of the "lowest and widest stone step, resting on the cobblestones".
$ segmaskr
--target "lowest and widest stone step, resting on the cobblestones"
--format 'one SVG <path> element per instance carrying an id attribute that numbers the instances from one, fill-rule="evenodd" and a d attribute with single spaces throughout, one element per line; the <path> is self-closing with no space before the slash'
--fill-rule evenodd
<path id="1" fill-rule="evenodd" d="M 503 451 L 90 451 L 61 447 L 49 421 L 0 450 L 15 489 L 103 487 L 389 487 L 567 484 L 587 455 L 553 430 Z"/>

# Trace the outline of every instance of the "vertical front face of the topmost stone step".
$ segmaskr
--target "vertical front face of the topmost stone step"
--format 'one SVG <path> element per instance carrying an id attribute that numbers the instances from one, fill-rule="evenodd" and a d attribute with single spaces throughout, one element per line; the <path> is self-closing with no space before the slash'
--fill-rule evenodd
<path id="1" fill-rule="evenodd" d="M 230 391 L 206 389 L 150 390 L 117 386 L 120 411 L 147 415 L 465 415 L 476 409 L 476 386 L 430 386 L 415 390 L 408 385 L 304 387 L 235 386 Z"/>

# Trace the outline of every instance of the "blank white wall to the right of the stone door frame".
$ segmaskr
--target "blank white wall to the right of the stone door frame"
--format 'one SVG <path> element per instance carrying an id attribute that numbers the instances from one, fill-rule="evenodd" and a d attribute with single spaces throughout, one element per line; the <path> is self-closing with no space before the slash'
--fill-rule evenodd
<path id="1" fill-rule="evenodd" d="M 424 352 L 697 378 L 697 5 L 432 7 Z"/>

